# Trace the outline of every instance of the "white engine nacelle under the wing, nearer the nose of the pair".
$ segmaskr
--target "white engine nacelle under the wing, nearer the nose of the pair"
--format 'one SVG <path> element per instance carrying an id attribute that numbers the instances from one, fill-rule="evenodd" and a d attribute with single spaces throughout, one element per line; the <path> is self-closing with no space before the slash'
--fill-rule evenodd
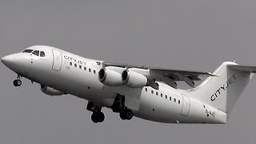
<path id="1" fill-rule="evenodd" d="M 98 71 L 98 80 L 106 86 L 122 86 L 121 74 L 108 67 Z"/>

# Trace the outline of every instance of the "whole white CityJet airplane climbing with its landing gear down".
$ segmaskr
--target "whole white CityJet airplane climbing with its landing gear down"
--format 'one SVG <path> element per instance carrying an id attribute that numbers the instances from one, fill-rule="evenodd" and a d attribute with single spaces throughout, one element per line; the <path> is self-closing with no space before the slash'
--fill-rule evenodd
<path id="1" fill-rule="evenodd" d="M 93 122 L 105 119 L 102 107 L 119 113 L 166 123 L 226 123 L 227 114 L 256 72 L 256 66 L 223 62 L 214 73 L 130 66 L 82 58 L 50 46 L 31 46 L 1 59 L 21 77 L 41 84 L 52 96 L 72 94 L 88 100 Z M 199 76 L 208 77 L 195 87 Z M 190 90 L 179 90 L 184 81 Z"/>

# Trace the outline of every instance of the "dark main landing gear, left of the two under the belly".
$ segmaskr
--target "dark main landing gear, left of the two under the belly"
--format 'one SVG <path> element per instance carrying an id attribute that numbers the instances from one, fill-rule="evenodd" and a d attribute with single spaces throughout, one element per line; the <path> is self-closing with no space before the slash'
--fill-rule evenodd
<path id="1" fill-rule="evenodd" d="M 86 109 L 93 112 L 93 114 L 91 115 L 91 120 L 94 123 L 104 121 L 105 115 L 101 111 L 102 110 L 101 106 L 95 105 L 94 102 L 88 102 Z"/>

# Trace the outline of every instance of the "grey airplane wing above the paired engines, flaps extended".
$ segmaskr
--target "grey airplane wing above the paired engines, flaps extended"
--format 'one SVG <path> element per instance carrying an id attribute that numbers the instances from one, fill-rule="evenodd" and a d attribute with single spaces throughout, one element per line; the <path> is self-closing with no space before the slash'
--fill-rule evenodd
<path id="1" fill-rule="evenodd" d="M 198 76 L 203 76 L 203 77 L 214 76 L 214 74 L 211 74 L 209 72 L 168 70 L 168 69 L 154 68 L 154 67 L 148 67 L 148 66 L 133 66 L 133 65 L 124 65 L 124 64 L 118 64 L 118 63 L 110 63 L 110 62 L 104 62 L 103 66 L 117 66 L 117 67 L 122 67 L 126 69 L 137 68 L 137 69 L 149 70 L 150 79 L 165 82 L 167 85 L 172 86 L 175 89 L 177 89 L 176 82 L 178 81 L 184 81 L 189 86 L 194 87 L 194 81 L 201 81 L 201 79 L 198 78 Z"/>

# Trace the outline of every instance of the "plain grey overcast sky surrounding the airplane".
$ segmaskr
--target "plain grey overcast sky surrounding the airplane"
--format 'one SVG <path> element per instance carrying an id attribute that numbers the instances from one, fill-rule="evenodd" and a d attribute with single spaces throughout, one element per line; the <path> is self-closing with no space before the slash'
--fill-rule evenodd
<path id="1" fill-rule="evenodd" d="M 2 0 L 0 57 L 48 45 L 110 62 L 213 71 L 223 61 L 256 66 L 256 1 Z M 123 122 L 86 100 L 50 97 L 1 63 L 0 143 L 256 143 L 256 78 L 226 125 Z"/>

